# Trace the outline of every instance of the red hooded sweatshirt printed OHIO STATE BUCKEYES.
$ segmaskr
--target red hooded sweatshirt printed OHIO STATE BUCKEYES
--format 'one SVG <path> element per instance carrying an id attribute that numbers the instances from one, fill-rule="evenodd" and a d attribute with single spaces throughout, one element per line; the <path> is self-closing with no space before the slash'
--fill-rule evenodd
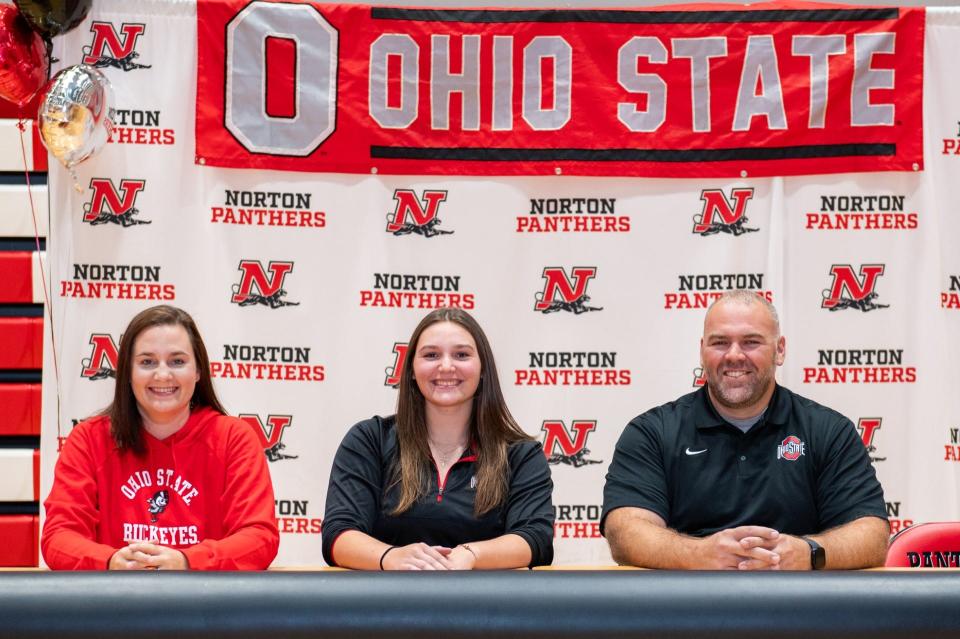
<path id="1" fill-rule="evenodd" d="M 131 541 L 183 552 L 194 570 L 263 570 L 277 554 L 273 485 L 248 424 L 199 408 L 176 433 L 119 451 L 110 420 L 78 424 L 44 502 L 40 547 L 54 570 L 103 570 Z"/>

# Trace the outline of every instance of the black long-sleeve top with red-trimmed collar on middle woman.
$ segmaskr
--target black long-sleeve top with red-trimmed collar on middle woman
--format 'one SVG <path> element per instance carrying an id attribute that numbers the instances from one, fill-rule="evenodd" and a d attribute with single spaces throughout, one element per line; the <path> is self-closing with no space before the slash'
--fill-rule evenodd
<path id="1" fill-rule="evenodd" d="M 473 513 L 476 494 L 470 449 L 446 478 L 434 472 L 426 494 L 399 515 L 400 487 L 388 490 L 398 456 L 395 418 L 373 417 L 355 425 L 343 438 L 333 460 L 323 520 L 323 557 L 331 566 L 333 545 L 348 530 L 405 546 L 416 542 L 453 547 L 512 533 L 529 545 L 531 566 L 553 561 L 553 481 L 543 449 L 522 441 L 507 451 L 509 490 L 506 500 L 481 517 Z"/>

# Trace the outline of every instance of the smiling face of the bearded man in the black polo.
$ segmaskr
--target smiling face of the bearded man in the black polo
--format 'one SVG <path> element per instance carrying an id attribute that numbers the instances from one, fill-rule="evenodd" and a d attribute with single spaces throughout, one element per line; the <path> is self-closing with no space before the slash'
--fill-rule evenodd
<path id="1" fill-rule="evenodd" d="M 776 322 L 759 301 L 714 304 L 703 324 L 700 364 L 717 410 L 747 419 L 766 408 L 785 347 Z"/>

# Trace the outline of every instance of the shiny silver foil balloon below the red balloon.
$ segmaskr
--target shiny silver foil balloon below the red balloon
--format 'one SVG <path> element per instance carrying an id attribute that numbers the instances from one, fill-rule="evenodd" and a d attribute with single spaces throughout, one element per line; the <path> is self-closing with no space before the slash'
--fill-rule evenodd
<path id="1" fill-rule="evenodd" d="M 113 135 L 113 87 L 97 69 L 67 67 L 47 85 L 37 119 L 44 146 L 72 169 Z"/>

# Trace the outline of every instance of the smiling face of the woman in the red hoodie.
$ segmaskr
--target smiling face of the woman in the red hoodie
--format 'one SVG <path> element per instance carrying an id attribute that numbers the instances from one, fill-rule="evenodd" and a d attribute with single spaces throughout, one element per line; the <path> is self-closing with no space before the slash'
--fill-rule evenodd
<path id="1" fill-rule="evenodd" d="M 147 429 L 152 424 L 182 426 L 200 379 L 187 331 L 179 324 L 144 330 L 133 343 L 130 364 L 130 385 Z"/>

